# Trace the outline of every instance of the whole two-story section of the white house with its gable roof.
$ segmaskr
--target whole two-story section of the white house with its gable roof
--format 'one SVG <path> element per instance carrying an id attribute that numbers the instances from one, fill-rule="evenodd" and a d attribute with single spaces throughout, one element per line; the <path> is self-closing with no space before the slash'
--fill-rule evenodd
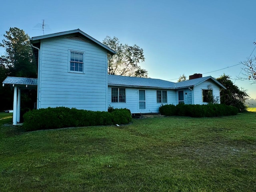
<path id="1" fill-rule="evenodd" d="M 30 42 L 38 66 L 38 109 L 107 110 L 108 58 L 114 50 L 79 29 Z"/>

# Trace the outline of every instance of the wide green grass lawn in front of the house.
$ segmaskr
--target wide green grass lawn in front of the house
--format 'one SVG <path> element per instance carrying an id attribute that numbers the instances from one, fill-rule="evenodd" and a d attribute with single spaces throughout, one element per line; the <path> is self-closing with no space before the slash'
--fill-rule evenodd
<path id="1" fill-rule="evenodd" d="M 0 126 L 12 122 L 0 114 Z M 0 191 L 256 191 L 256 113 L 0 127 Z"/>

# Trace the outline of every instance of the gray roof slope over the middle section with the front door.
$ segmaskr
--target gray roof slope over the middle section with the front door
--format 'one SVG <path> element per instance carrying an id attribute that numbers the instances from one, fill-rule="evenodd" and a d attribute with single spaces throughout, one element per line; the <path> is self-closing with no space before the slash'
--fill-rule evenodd
<path id="1" fill-rule="evenodd" d="M 161 79 L 108 75 L 108 85 L 141 88 L 174 89 L 175 83 Z"/>

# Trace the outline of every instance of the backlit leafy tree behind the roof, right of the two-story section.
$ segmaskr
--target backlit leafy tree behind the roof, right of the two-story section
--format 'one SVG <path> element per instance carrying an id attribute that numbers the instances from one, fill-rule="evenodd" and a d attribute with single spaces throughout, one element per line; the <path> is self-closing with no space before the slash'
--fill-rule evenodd
<path id="1" fill-rule="evenodd" d="M 116 51 L 116 54 L 108 60 L 108 74 L 148 77 L 148 71 L 138 65 L 145 61 L 142 48 L 137 45 L 122 44 L 118 38 L 109 36 L 106 36 L 103 44 Z"/>

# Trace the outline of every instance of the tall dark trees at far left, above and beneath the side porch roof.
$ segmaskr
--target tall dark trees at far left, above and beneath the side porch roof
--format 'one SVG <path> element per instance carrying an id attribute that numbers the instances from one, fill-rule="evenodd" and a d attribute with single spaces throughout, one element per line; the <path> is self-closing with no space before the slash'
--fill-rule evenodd
<path id="1" fill-rule="evenodd" d="M 29 36 L 24 30 L 10 28 L 4 34 L 0 46 L 5 48 L 5 54 L 0 56 L 0 83 L 7 76 L 37 77 L 37 67 L 34 62 Z M 32 98 L 32 99 L 31 99 Z M 35 102 L 36 91 L 24 90 L 21 95 L 21 107 L 31 108 Z M 13 92 L 9 86 L 0 86 L 0 110 L 12 109 Z"/>

